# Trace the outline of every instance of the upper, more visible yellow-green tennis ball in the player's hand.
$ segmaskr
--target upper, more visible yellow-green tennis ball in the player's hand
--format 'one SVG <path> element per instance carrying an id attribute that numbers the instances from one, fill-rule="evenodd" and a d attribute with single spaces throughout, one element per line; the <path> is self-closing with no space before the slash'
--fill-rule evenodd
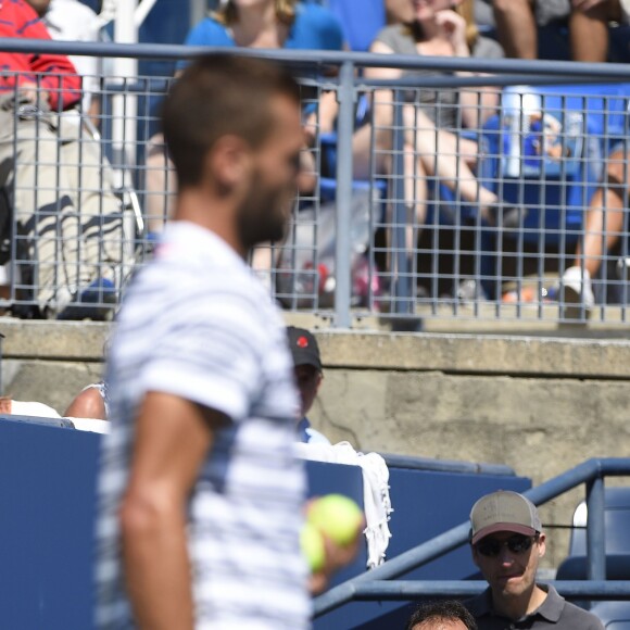
<path id="1" fill-rule="evenodd" d="M 338 545 L 349 545 L 363 521 L 363 512 L 343 494 L 327 494 L 316 499 L 308 509 L 307 521 Z"/>

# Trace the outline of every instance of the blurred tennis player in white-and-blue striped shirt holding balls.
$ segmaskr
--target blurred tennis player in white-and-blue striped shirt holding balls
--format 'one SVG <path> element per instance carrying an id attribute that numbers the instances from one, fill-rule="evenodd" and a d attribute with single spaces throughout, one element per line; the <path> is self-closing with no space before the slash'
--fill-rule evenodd
<path id="1" fill-rule="evenodd" d="M 203 56 L 166 97 L 163 129 L 176 213 L 109 352 L 97 626 L 304 629 L 299 401 L 284 323 L 245 262 L 289 217 L 298 85 L 268 62 Z M 330 542 L 314 578 L 350 559 L 358 533 Z"/>

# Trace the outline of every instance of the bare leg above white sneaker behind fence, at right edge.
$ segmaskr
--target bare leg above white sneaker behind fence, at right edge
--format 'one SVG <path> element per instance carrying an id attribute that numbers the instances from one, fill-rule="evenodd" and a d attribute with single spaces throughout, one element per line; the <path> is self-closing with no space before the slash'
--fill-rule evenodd
<path id="1" fill-rule="evenodd" d="M 613 153 L 608 160 L 608 186 L 600 187 L 587 212 L 583 250 L 578 242 L 576 266 L 582 260 L 584 268 L 594 277 L 602 265 L 602 256 L 619 240 L 623 229 L 623 213 L 628 197 L 628 155 Z M 583 251 L 583 253 L 582 253 Z"/>

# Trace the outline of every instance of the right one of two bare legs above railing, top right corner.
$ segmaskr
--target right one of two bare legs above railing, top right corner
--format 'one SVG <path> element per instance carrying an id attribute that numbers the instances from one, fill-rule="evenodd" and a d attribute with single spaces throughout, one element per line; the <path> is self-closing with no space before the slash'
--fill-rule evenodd
<path id="1" fill-rule="evenodd" d="M 605 62 L 608 58 L 608 2 L 602 2 L 589 11 L 571 11 L 569 37 L 571 56 L 575 61 Z"/>

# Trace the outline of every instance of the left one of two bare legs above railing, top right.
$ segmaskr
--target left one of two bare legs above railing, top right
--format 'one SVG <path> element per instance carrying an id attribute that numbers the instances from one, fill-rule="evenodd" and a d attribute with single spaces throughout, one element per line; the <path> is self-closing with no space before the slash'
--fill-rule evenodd
<path id="1" fill-rule="evenodd" d="M 515 59 L 537 59 L 533 0 L 494 0 L 493 7 L 496 33 L 505 54 Z"/>

